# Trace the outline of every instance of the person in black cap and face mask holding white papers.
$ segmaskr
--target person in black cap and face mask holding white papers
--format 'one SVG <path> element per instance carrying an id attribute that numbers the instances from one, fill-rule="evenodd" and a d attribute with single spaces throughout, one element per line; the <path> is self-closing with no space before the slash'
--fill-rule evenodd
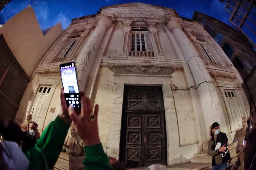
<path id="1" fill-rule="evenodd" d="M 226 170 L 230 153 L 228 151 L 228 137 L 220 132 L 220 124 L 214 122 L 211 128 L 211 139 L 208 141 L 208 155 L 212 156 L 212 170 Z M 217 146 L 217 147 L 216 147 Z"/>

